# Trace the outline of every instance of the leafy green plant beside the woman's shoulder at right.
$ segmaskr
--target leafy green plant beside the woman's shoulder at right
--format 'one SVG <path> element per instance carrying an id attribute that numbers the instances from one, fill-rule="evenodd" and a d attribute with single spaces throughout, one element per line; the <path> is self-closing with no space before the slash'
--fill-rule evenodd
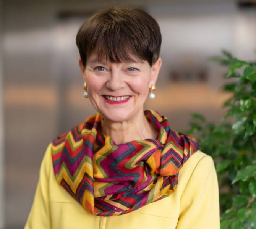
<path id="1" fill-rule="evenodd" d="M 220 124 L 193 113 L 186 134 L 196 134 L 200 150 L 215 162 L 220 192 L 222 229 L 256 229 L 256 69 L 254 62 L 234 58 L 229 52 L 210 60 L 228 66 L 232 80 L 222 87 L 231 97 Z M 232 121 L 224 123 L 227 118 Z"/>

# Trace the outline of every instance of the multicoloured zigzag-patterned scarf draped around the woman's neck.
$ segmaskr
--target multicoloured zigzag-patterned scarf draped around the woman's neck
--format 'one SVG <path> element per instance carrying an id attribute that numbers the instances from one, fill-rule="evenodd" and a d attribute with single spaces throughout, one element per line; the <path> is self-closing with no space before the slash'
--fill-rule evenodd
<path id="1" fill-rule="evenodd" d="M 157 139 L 115 144 L 101 134 L 100 113 L 52 141 L 55 177 L 97 216 L 127 214 L 171 195 L 178 171 L 198 150 L 196 139 L 170 129 L 165 116 L 145 110 Z"/>

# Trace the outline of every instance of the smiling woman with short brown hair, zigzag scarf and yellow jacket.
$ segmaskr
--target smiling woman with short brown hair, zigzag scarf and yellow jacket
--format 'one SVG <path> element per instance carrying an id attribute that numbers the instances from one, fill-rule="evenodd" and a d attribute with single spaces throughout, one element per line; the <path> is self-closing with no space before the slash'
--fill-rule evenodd
<path id="1" fill-rule="evenodd" d="M 84 97 L 98 113 L 48 145 L 25 229 L 220 228 L 211 156 L 143 109 L 162 64 L 157 22 L 101 9 L 76 44 Z"/>

